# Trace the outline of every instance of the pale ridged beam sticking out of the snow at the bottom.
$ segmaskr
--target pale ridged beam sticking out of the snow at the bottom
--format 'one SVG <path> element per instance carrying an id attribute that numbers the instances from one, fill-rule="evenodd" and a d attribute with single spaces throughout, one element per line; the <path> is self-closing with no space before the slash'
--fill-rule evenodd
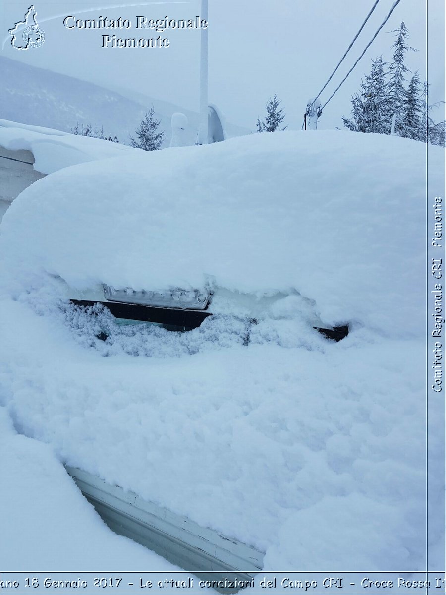
<path id="1" fill-rule="evenodd" d="M 177 515 L 86 471 L 67 472 L 115 533 L 129 537 L 172 564 L 205 580 L 250 580 L 262 569 L 263 552 Z M 234 592 L 234 589 L 221 589 Z"/>

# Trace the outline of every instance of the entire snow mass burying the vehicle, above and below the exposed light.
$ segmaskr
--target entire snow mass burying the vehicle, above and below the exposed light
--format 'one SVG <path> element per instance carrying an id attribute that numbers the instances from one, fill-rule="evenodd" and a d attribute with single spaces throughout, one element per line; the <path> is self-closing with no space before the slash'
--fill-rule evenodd
<path id="1" fill-rule="evenodd" d="M 265 134 L 38 181 L 0 230 L 0 403 L 16 430 L 264 549 L 266 569 L 424 568 L 424 151 Z M 97 318 L 64 305 L 60 278 L 212 278 L 279 297 L 249 346 L 225 317 L 103 343 Z M 328 324 L 350 323 L 348 337 L 315 333 L 294 290 Z M 441 511 L 441 477 L 430 493 Z M 438 567 L 441 527 L 430 539 Z"/>

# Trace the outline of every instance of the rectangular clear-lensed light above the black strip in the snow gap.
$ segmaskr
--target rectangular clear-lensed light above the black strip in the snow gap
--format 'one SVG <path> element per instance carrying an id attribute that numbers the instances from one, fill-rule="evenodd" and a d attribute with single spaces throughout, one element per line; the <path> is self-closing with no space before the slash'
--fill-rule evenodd
<path id="1" fill-rule="evenodd" d="M 131 287 L 115 289 L 103 286 L 103 295 L 109 302 L 137 303 L 156 308 L 180 308 L 183 310 L 205 310 L 208 307 L 211 292 L 202 289 L 169 289 L 165 291 L 136 292 Z"/>

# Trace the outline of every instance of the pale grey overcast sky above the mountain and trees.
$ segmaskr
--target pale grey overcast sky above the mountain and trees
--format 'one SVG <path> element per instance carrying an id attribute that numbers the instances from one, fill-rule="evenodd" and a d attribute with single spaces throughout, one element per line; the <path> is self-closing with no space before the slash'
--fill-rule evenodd
<path id="1" fill-rule="evenodd" d="M 307 99 L 321 90 L 347 49 L 374 0 L 209 0 L 209 100 L 231 123 L 255 129 L 264 114 L 266 99 L 282 99 L 290 129 L 300 130 Z M 199 44 L 196 30 L 157 33 L 171 45 L 162 49 L 102 48 L 102 35 L 153 37 L 136 29 L 136 16 L 193 18 L 200 15 L 200 0 L 187 2 L 135 2 L 124 0 L 35 0 L 37 20 L 45 30 L 40 48 L 17 51 L 8 29 L 24 16 L 31 0 L 2 0 L 2 55 L 59 73 L 95 82 L 114 90 L 125 89 L 198 110 Z M 394 0 L 381 0 L 368 24 L 335 74 L 321 99 L 325 102 L 359 57 Z M 97 11 L 92 11 L 97 7 Z M 107 8 L 109 7 L 109 8 Z M 431 102 L 444 98 L 444 0 L 428 0 L 428 63 Z M 88 12 L 86 12 L 88 11 Z M 68 30 L 65 16 L 128 18 L 130 30 Z M 56 17 L 56 18 L 52 18 Z M 51 19 L 51 20 L 48 20 Z M 341 115 L 350 112 L 350 98 L 371 59 L 391 59 L 392 29 L 406 23 L 410 43 L 417 52 L 407 65 L 426 77 L 426 1 L 402 0 L 375 42 L 344 86 L 325 108 L 319 128 L 342 127 Z M 1 46 L 0 46 L 1 48 Z M 434 114 L 442 120 L 442 109 Z M 1 117 L 1 114 L 0 114 Z"/>

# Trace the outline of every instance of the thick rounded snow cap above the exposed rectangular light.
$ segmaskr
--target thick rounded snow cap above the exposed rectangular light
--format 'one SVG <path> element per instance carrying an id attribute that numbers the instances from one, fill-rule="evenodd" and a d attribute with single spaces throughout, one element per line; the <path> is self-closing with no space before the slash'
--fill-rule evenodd
<path id="1" fill-rule="evenodd" d="M 26 189 L 2 248 L 24 287 L 50 273 L 79 290 L 297 290 L 328 324 L 420 336 L 424 172 L 422 143 L 341 131 L 132 151 Z"/>

